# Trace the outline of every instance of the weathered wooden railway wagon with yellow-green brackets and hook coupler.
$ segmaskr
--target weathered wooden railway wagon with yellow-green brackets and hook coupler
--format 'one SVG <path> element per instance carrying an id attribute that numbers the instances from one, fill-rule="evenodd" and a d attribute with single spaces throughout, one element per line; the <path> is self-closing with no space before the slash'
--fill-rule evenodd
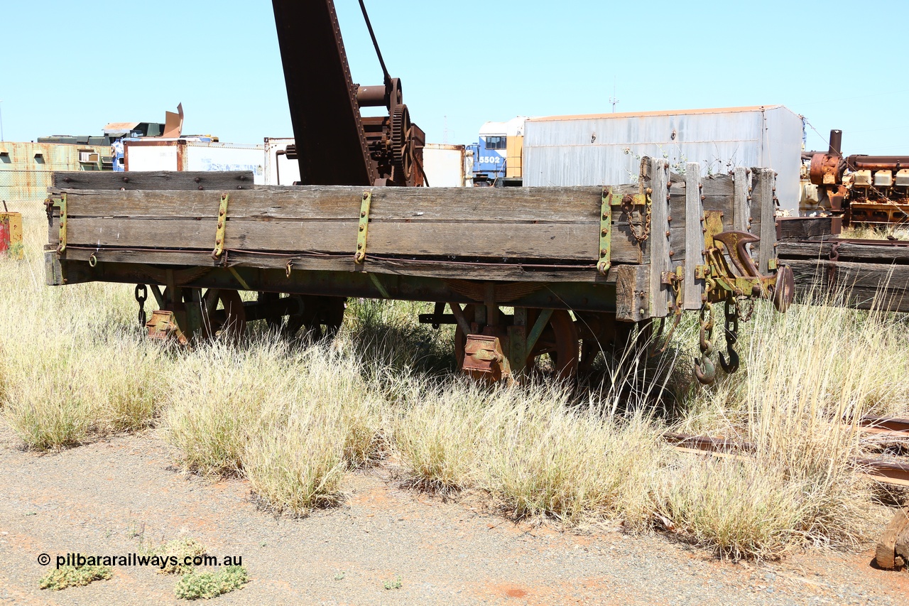
<path id="1" fill-rule="evenodd" d="M 465 371 L 500 379 L 549 354 L 570 376 L 635 323 L 723 298 L 785 298 L 774 173 L 699 176 L 696 164 L 679 176 L 649 158 L 637 184 L 612 187 L 257 187 L 248 173 L 57 173 L 46 281 L 133 283 L 140 305 L 150 290 L 159 309 L 149 335 L 184 342 L 255 319 L 331 333 L 345 298 L 430 301 L 435 312 L 421 319 L 456 324 Z M 734 251 L 749 242 L 756 265 Z M 258 299 L 244 302 L 242 290 Z"/>

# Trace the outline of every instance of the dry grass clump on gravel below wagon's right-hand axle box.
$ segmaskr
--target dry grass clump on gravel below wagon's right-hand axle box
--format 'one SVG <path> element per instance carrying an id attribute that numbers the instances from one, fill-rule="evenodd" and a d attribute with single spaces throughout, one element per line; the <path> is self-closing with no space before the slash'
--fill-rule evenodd
<path id="1" fill-rule="evenodd" d="M 488 493 L 515 518 L 647 525 L 649 477 L 666 447 L 640 414 L 610 419 L 569 404 L 564 385 L 484 388 L 464 381 L 412 402 L 395 445 L 415 486 Z"/>

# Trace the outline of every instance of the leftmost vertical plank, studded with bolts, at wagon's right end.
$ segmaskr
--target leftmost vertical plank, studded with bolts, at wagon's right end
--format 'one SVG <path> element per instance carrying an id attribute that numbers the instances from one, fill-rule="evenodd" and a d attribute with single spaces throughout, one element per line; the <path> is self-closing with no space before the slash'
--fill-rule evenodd
<path id="1" fill-rule="evenodd" d="M 654 160 L 651 168 L 651 228 L 650 228 L 650 317 L 664 318 L 669 313 L 669 301 L 672 300 L 672 289 L 662 282 L 664 271 L 672 271 L 669 237 L 671 234 L 669 163 L 665 160 Z"/>

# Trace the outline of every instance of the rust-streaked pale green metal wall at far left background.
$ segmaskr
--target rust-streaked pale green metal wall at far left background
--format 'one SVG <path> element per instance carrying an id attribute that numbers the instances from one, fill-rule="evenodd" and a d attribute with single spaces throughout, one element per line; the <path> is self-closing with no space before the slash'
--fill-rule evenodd
<path id="1" fill-rule="evenodd" d="M 0 143 L 0 200 L 24 217 L 42 217 L 54 171 L 100 170 L 100 163 L 79 162 L 80 151 L 92 151 L 99 157 L 111 155 L 108 146 Z"/>

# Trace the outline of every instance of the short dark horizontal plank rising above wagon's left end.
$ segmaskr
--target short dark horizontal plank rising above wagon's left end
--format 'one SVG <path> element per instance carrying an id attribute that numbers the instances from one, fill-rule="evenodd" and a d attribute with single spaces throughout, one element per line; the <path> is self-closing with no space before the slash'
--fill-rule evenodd
<path id="1" fill-rule="evenodd" d="M 253 171 L 225 172 L 149 171 L 120 173 L 113 171 L 55 172 L 56 189 L 252 189 Z"/>

